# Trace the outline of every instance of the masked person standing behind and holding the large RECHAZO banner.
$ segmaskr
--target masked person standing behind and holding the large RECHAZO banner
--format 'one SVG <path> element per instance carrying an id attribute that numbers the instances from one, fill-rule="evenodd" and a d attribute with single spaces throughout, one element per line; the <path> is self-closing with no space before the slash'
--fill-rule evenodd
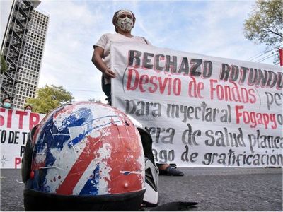
<path id="1" fill-rule="evenodd" d="M 108 104 L 111 105 L 111 78 L 115 78 L 115 73 L 110 69 L 110 45 L 111 42 L 135 42 L 145 45 L 151 43 L 144 37 L 132 35 L 132 28 L 136 22 L 136 17 L 132 11 L 121 9 L 115 12 L 112 23 L 116 33 L 106 33 L 100 37 L 96 45 L 93 45 L 93 57 L 91 61 L 96 68 L 102 72 L 102 90 L 107 96 Z M 183 172 L 177 170 L 169 164 L 157 164 L 159 175 L 183 176 Z"/>

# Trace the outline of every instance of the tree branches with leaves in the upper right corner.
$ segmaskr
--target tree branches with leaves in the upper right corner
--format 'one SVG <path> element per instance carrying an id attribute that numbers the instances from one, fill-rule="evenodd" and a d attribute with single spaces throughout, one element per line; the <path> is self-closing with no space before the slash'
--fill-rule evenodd
<path id="1" fill-rule="evenodd" d="M 255 1 L 255 8 L 244 23 L 244 35 L 255 44 L 265 43 L 266 52 L 278 49 L 283 37 L 283 1 Z M 279 52 L 277 51 L 279 60 Z"/>

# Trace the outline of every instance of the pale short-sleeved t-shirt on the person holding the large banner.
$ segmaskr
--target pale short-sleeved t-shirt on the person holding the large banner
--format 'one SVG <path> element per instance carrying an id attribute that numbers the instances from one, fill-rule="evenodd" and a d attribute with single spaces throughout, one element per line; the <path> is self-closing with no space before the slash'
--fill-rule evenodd
<path id="1" fill-rule="evenodd" d="M 125 35 L 119 33 L 115 33 L 115 34 L 106 33 L 102 35 L 98 40 L 98 42 L 96 43 L 96 45 L 93 45 L 93 48 L 101 47 L 104 49 L 103 60 L 106 66 L 108 66 L 108 68 L 110 68 L 110 45 L 112 42 L 137 42 L 137 43 L 151 45 L 151 43 L 148 40 L 146 40 L 144 37 L 139 37 L 139 36 L 126 37 Z M 111 83 L 110 79 L 108 78 L 104 78 L 103 82 L 104 85 Z"/>

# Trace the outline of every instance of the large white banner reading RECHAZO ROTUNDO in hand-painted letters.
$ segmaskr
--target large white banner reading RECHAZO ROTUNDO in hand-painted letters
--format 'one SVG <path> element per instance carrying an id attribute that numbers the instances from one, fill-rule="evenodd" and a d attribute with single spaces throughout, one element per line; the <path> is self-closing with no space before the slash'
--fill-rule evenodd
<path id="1" fill-rule="evenodd" d="M 149 129 L 157 163 L 282 166 L 280 66 L 113 43 L 112 106 Z"/>

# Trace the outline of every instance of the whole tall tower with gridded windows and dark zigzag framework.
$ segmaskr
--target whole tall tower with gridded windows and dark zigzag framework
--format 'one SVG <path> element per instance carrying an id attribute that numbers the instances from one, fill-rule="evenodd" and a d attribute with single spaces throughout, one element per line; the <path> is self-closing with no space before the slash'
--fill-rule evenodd
<path id="1" fill-rule="evenodd" d="M 49 16 L 35 10 L 40 1 L 14 0 L 1 45 L 8 66 L 1 70 L 1 100 L 10 98 L 13 107 L 23 109 L 35 97 Z"/>

